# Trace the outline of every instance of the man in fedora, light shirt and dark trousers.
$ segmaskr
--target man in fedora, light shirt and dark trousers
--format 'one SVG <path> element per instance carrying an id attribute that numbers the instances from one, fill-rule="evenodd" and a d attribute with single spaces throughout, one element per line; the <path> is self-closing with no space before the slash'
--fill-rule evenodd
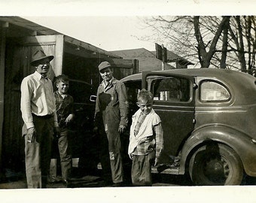
<path id="1" fill-rule="evenodd" d="M 59 132 L 53 85 L 47 78 L 52 59 L 37 50 L 30 63 L 35 73 L 25 77 L 20 87 L 28 188 L 46 187 L 53 131 Z"/>

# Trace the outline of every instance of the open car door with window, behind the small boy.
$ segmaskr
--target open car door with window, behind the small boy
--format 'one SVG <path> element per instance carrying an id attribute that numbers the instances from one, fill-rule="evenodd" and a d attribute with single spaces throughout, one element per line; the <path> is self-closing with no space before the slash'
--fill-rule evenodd
<path id="1" fill-rule="evenodd" d="M 154 111 L 163 126 L 163 156 L 178 156 L 194 130 L 194 77 L 163 72 L 145 72 L 142 88 L 154 95 Z"/>

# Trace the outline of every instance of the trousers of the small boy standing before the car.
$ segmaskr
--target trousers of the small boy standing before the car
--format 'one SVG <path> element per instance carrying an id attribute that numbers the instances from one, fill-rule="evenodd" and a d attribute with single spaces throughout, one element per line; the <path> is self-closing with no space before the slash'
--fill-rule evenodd
<path id="1" fill-rule="evenodd" d="M 134 186 L 152 186 L 151 165 L 155 151 L 147 155 L 133 155 L 132 182 Z"/>

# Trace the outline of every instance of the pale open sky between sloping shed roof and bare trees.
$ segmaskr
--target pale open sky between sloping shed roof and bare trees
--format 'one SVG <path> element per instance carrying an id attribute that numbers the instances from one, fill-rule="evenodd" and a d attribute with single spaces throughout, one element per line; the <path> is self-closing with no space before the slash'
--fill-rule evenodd
<path id="1" fill-rule="evenodd" d="M 23 16 L 22 16 L 23 17 Z M 23 17 L 103 50 L 154 50 L 154 41 L 139 38 L 151 33 L 142 17 Z"/>

